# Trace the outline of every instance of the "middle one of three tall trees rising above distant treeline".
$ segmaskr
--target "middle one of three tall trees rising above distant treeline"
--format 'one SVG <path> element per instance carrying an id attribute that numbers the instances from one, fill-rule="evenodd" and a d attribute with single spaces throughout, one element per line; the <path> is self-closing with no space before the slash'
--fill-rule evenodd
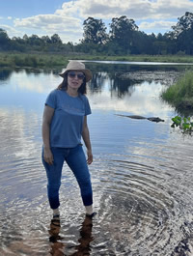
<path id="1" fill-rule="evenodd" d="M 110 40 L 118 43 L 124 51 L 129 51 L 133 43 L 133 34 L 138 30 L 135 21 L 128 19 L 125 15 L 113 17 L 110 29 Z"/>

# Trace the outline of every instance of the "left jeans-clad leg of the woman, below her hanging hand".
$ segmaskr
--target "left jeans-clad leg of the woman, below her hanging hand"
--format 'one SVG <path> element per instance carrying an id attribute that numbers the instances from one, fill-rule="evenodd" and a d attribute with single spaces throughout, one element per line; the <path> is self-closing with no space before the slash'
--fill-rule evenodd
<path id="1" fill-rule="evenodd" d="M 65 160 L 64 150 L 51 148 L 54 163 L 49 165 L 42 157 L 42 163 L 47 175 L 47 195 L 51 209 L 57 209 L 60 206 L 59 188 L 61 185 L 62 168 Z M 43 155 L 43 151 L 42 151 Z"/>

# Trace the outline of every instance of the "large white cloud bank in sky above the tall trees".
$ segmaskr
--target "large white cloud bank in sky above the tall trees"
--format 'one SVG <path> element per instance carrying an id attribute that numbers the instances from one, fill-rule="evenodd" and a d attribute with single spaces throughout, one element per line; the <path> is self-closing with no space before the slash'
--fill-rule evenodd
<path id="1" fill-rule="evenodd" d="M 146 18 L 177 18 L 192 10 L 193 2 L 189 0 L 77 0 L 64 3 L 56 14 L 78 14 L 82 18 L 112 18 L 127 15 L 135 20 Z"/>

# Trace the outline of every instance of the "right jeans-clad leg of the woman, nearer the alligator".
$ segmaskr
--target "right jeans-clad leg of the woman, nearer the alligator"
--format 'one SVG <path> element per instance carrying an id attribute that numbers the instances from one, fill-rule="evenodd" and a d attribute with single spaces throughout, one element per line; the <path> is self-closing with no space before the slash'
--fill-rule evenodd
<path id="1" fill-rule="evenodd" d="M 69 149 L 66 161 L 78 182 L 84 206 L 93 205 L 91 177 L 82 146 L 78 145 L 73 149 Z"/>

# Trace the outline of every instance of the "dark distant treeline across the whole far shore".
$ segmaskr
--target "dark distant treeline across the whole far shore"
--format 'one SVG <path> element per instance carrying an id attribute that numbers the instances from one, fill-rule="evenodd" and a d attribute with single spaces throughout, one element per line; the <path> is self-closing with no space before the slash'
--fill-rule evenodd
<path id="1" fill-rule="evenodd" d="M 63 43 L 58 34 L 9 38 L 0 28 L 0 51 L 84 53 L 90 55 L 193 55 L 193 14 L 186 12 L 170 32 L 157 36 L 139 31 L 133 19 L 125 15 L 113 17 L 109 32 L 102 19 L 88 17 L 83 22 L 83 39 L 79 43 Z"/>

